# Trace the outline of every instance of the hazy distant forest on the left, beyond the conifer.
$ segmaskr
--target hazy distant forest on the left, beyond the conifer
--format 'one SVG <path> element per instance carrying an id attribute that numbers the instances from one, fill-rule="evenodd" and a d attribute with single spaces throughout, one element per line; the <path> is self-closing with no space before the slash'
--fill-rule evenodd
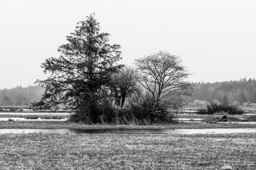
<path id="1" fill-rule="evenodd" d="M 44 89 L 38 86 L 21 87 L 12 89 L 0 89 L 0 105 L 20 105 L 39 102 Z"/>

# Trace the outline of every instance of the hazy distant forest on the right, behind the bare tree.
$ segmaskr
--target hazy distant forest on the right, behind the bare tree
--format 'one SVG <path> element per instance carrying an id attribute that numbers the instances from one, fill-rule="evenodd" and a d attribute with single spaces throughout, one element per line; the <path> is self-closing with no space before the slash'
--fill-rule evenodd
<path id="1" fill-rule="evenodd" d="M 187 103 L 193 103 L 195 100 L 209 101 L 216 99 L 222 102 L 223 97 L 228 98 L 228 103 L 237 104 L 256 103 L 256 81 L 255 79 L 239 81 L 224 81 L 214 83 L 195 82 L 195 88 L 192 96 L 184 96 Z"/>

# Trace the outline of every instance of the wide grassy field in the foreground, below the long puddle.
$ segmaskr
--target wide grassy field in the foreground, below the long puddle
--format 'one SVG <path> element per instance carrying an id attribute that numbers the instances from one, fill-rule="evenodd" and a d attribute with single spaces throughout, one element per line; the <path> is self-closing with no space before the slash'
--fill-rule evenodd
<path id="1" fill-rule="evenodd" d="M 3 134 L 0 169 L 256 168 L 256 134 Z"/>

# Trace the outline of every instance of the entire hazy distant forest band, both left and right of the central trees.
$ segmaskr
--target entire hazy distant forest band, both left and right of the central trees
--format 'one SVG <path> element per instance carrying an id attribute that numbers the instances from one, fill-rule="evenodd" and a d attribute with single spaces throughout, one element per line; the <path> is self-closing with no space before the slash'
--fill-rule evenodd
<path id="1" fill-rule="evenodd" d="M 256 80 L 246 78 L 239 81 L 223 81 L 214 83 L 195 82 L 192 96 L 184 96 L 186 103 L 193 103 L 195 100 L 209 101 L 216 99 L 222 102 L 223 97 L 228 98 L 228 103 L 237 104 L 256 103 Z M 12 89 L 0 89 L 0 105 L 20 105 L 38 102 L 44 89 L 38 86 L 21 87 Z"/>

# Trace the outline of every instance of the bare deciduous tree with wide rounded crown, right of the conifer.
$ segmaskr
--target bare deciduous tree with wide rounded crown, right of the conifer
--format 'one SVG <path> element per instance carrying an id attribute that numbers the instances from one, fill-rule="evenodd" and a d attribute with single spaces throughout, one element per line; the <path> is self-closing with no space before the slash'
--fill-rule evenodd
<path id="1" fill-rule="evenodd" d="M 152 95 L 152 109 L 179 107 L 181 95 L 190 95 L 192 83 L 186 81 L 191 75 L 182 66 L 180 56 L 166 51 L 135 59 L 140 74 L 140 84 Z"/>

